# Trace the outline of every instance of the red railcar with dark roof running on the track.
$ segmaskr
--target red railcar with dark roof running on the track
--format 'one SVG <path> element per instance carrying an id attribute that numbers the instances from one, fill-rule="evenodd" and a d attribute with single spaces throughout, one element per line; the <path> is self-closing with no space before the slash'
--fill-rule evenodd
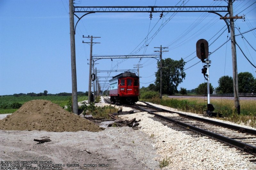
<path id="1" fill-rule="evenodd" d="M 138 102 L 139 77 L 135 73 L 124 72 L 109 80 L 109 96 L 113 103 Z"/>

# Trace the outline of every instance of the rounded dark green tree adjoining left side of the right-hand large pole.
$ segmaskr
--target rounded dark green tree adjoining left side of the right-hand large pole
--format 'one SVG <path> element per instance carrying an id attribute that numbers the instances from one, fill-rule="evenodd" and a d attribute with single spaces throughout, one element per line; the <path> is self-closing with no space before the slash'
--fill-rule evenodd
<path id="1" fill-rule="evenodd" d="M 216 88 L 218 94 L 234 93 L 233 78 L 225 75 L 218 80 L 219 86 Z"/>

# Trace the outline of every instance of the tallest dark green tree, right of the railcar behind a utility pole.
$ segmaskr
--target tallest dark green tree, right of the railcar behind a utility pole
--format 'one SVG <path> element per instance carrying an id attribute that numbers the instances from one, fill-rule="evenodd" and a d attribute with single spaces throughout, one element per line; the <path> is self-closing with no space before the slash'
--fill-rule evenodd
<path id="1" fill-rule="evenodd" d="M 173 95 L 177 93 L 177 87 L 185 79 L 186 73 L 184 72 L 185 61 L 173 60 L 166 58 L 162 60 L 162 93 Z M 160 91 L 160 62 L 157 62 L 158 70 L 156 72 L 156 89 Z"/>

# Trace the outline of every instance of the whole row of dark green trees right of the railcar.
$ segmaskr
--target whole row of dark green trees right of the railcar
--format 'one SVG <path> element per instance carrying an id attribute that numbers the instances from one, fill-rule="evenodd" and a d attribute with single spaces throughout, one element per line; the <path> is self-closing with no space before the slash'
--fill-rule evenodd
<path id="1" fill-rule="evenodd" d="M 155 73 L 156 81 L 154 84 L 149 84 L 147 90 L 160 91 L 160 69 L 162 69 L 162 94 L 174 95 L 175 93 L 187 94 L 196 93 L 198 95 L 207 94 L 207 83 L 201 83 L 197 88 L 187 90 L 186 88 L 177 87 L 185 79 L 186 73 L 184 73 L 185 62 L 181 58 L 180 60 L 173 60 L 166 58 L 162 60 L 162 68 L 160 68 L 160 62 L 157 63 L 158 70 Z M 231 76 L 222 76 L 218 80 L 218 87 L 213 88 L 210 83 L 210 94 L 214 91 L 216 94 L 228 94 L 234 93 L 233 78 Z M 145 87 L 142 87 L 142 89 Z M 238 90 L 239 93 L 256 93 L 256 78 L 252 73 L 241 72 L 238 73 Z"/>

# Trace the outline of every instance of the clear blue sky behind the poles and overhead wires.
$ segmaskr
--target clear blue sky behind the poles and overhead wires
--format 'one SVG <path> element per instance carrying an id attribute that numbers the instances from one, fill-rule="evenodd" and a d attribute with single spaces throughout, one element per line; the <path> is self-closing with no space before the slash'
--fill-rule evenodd
<path id="1" fill-rule="evenodd" d="M 213 0 L 76 0 L 74 6 L 227 6 L 226 1 Z M 234 15 L 244 19 L 235 21 L 235 34 L 256 27 L 256 3 L 254 0 L 235 1 Z M 14 93 L 72 92 L 68 0 L 1 0 L 0 1 L 0 95 Z M 225 15 L 225 12 L 220 12 Z M 90 56 L 90 40 L 96 38 L 93 55 L 141 55 L 157 54 L 154 47 L 168 47 L 163 58 L 187 62 L 186 78 L 179 85 L 195 89 L 204 83 L 203 64 L 196 64 L 196 42 L 206 39 L 213 52 L 229 37 L 225 22 L 216 14 L 207 12 L 153 13 L 94 13 L 81 19 L 76 28 L 77 91 L 88 91 L 87 65 Z M 75 21 L 77 21 L 75 17 Z M 223 33 L 223 34 L 222 34 Z M 236 36 L 236 42 L 247 58 L 256 65 L 256 29 Z M 252 45 L 247 43 L 247 41 Z M 142 42 L 142 43 L 141 43 Z M 147 46 L 145 46 L 147 44 Z M 256 69 L 246 60 L 238 47 L 237 69 L 250 72 Z M 210 55 L 210 82 L 218 86 L 221 76 L 232 76 L 231 42 L 224 44 Z M 134 69 L 141 64 L 140 87 L 155 81 L 156 59 L 100 59 L 97 70 Z M 196 64 L 195 66 L 193 66 Z M 192 67 L 190 67 L 192 66 Z M 190 67 L 190 68 L 189 68 Z M 118 72 L 119 73 L 119 72 Z M 99 73 L 98 76 L 118 74 Z M 104 80 L 102 78 L 101 80 Z"/>

